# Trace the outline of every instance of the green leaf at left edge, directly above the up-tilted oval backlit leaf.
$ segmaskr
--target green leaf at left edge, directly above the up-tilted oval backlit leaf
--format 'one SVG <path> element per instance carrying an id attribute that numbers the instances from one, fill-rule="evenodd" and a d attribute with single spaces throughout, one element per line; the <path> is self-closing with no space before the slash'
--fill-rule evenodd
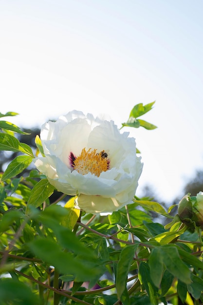
<path id="1" fill-rule="evenodd" d="M 0 151 L 12 151 L 12 152 L 23 152 L 33 155 L 31 148 L 28 149 L 28 145 L 20 143 L 15 136 L 7 133 L 0 133 Z"/>

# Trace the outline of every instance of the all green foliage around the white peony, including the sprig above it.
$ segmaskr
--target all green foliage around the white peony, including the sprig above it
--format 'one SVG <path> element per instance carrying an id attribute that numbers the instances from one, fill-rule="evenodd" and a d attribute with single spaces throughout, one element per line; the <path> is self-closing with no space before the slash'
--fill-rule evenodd
<path id="1" fill-rule="evenodd" d="M 153 104 L 135 105 L 123 127 L 155 128 L 138 119 Z M 136 196 L 106 216 L 85 214 L 63 194 L 53 204 L 55 188 L 29 170 L 35 155 L 15 136 L 27 133 L 6 121 L 0 129 L 0 150 L 19 153 L 0 174 L 0 304 L 203 303 L 203 236 L 185 224 L 185 205 L 179 217 Z M 43 155 L 38 136 L 36 146 Z M 154 222 L 152 212 L 171 222 Z"/>

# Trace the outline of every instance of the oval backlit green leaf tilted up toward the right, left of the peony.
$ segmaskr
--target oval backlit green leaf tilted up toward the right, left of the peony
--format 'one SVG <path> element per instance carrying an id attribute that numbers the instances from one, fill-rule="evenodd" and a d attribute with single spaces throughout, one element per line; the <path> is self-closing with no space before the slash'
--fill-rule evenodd
<path id="1" fill-rule="evenodd" d="M 21 173 L 24 169 L 26 169 L 30 163 L 32 162 L 33 158 L 31 156 L 20 155 L 17 156 L 11 163 L 8 165 L 7 169 L 3 173 L 1 180 L 5 181 L 12 177 L 17 176 Z"/>

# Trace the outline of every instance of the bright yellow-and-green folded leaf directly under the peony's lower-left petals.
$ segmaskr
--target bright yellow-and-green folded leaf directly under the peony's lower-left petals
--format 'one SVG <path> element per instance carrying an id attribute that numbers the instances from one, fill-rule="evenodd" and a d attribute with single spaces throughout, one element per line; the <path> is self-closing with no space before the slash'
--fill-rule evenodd
<path id="1" fill-rule="evenodd" d="M 66 208 L 69 213 L 64 215 L 63 219 L 61 220 L 61 224 L 71 230 L 74 229 L 74 225 L 80 216 L 80 209 L 78 209 L 77 206 L 75 207 L 74 201 L 75 197 L 72 197 L 69 201 L 67 201 L 64 208 Z"/>

